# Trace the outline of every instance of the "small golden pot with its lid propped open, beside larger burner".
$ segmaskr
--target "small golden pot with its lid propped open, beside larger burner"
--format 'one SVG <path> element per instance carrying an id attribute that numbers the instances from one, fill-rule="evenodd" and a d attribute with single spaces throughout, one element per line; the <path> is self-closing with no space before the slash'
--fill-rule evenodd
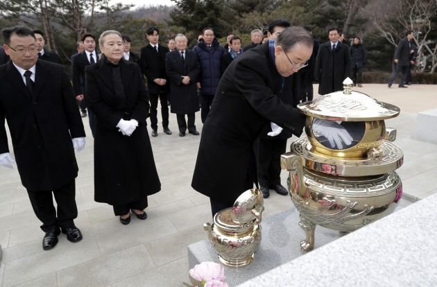
<path id="1" fill-rule="evenodd" d="M 218 211 L 214 223 L 205 223 L 209 241 L 225 266 L 241 267 L 253 261 L 261 243 L 264 199 L 258 189 L 243 192 L 231 208 Z"/>

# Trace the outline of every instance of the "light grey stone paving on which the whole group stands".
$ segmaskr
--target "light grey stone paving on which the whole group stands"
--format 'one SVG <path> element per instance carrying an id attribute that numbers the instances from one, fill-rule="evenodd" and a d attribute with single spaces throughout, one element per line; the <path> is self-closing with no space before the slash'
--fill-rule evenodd
<path id="1" fill-rule="evenodd" d="M 317 91 L 316 85 L 314 88 Z M 437 108 L 436 88 L 411 85 L 398 89 L 393 85 L 388 89 L 377 84 L 357 88 L 402 111 L 386 121 L 386 126 L 397 128 L 395 143 L 404 150 L 404 166 L 398 170 L 404 184 L 404 204 L 437 193 L 437 145 L 410 139 L 417 113 Z M 91 134 L 87 118 L 84 123 Z M 201 132 L 200 113 L 196 125 Z M 178 137 L 175 114 L 170 116 L 170 129 L 171 136 L 160 129 L 158 137 L 151 137 L 162 191 L 149 197 L 148 219 L 132 217 L 127 226 L 119 223 L 112 207 L 94 202 L 94 147 L 93 139 L 87 137 L 85 150 L 76 153 L 80 169 L 76 225 L 84 239 L 70 243 L 61 234 L 58 245 L 49 251 L 42 250 L 44 234 L 17 169 L 0 167 L 0 287 L 169 287 L 188 281 L 187 245 L 206 238 L 202 225 L 212 217 L 208 198 L 190 186 L 200 137 Z M 429 129 L 436 131 L 435 127 Z M 286 176 L 283 172 L 283 182 Z M 294 208 L 289 198 L 274 192 L 265 203 L 264 216 Z"/>

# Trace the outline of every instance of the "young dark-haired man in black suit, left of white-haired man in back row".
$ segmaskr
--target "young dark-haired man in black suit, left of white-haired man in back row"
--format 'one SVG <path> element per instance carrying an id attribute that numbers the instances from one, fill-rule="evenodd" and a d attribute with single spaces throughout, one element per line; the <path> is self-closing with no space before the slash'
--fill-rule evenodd
<path id="1" fill-rule="evenodd" d="M 169 105 L 167 96 L 169 84 L 165 73 L 165 54 L 169 48 L 158 44 L 160 29 L 150 27 L 146 31 L 149 44 L 141 49 L 141 68 L 147 78 L 148 96 L 151 101 L 151 127 L 152 137 L 157 137 L 157 102 L 161 102 L 162 128 L 166 134 L 171 134 L 169 129 Z"/>

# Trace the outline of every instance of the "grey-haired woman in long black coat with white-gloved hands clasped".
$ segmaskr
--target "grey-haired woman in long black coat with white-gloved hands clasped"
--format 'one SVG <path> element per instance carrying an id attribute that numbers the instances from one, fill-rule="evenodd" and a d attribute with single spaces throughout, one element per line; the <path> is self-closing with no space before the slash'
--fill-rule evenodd
<path id="1" fill-rule="evenodd" d="M 98 44 L 101 59 L 85 69 L 85 100 L 96 114 L 94 198 L 127 225 L 130 210 L 147 218 L 147 195 L 161 189 L 146 129 L 148 94 L 138 65 L 123 59 L 120 33 L 105 31 Z"/>

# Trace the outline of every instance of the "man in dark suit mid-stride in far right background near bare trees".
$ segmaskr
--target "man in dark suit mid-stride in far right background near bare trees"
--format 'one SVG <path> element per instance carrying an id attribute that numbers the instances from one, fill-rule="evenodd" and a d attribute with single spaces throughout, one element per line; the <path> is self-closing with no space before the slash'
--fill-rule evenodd
<path id="1" fill-rule="evenodd" d="M 407 31 L 406 37 L 397 44 L 395 63 L 396 69 L 391 74 L 390 80 L 388 80 L 388 87 L 391 87 L 395 81 L 397 75 L 402 71 L 402 78 L 400 79 L 398 87 L 406 87 L 405 80 L 408 75 L 408 70 L 410 69 L 410 51 L 411 51 L 411 40 L 413 40 L 413 31 Z"/>

